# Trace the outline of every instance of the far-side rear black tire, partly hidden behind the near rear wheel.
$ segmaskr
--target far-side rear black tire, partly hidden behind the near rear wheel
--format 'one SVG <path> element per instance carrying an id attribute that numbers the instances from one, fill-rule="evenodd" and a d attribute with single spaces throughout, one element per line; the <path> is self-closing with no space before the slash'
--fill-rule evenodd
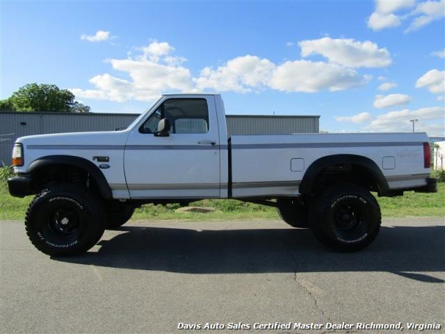
<path id="1" fill-rule="evenodd" d="M 300 198 L 289 198 L 277 200 L 277 213 L 282 220 L 293 228 L 307 228 L 307 205 Z"/>

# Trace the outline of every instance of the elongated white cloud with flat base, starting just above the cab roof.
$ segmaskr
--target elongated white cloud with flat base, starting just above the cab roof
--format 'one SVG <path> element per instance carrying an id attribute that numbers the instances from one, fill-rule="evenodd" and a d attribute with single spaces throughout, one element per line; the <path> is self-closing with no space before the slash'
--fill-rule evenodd
<path id="1" fill-rule="evenodd" d="M 371 77 L 340 65 L 286 61 L 275 65 L 257 56 L 237 57 L 213 70 L 204 67 L 200 77 L 193 79 L 198 90 L 212 88 L 245 93 L 262 88 L 286 92 L 314 93 L 320 90 L 345 90 L 367 84 Z"/>

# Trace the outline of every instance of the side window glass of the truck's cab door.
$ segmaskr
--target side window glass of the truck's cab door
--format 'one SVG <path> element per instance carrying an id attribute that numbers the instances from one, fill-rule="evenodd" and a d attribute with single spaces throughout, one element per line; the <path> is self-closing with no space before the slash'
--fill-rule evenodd
<path id="1" fill-rule="evenodd" d="M 209 109 L 205 99 L 168 99 L 140 127 L 143 134 L 154 134 L 161 119 L 170 120 L 170 134 L 206 134 Z"/>

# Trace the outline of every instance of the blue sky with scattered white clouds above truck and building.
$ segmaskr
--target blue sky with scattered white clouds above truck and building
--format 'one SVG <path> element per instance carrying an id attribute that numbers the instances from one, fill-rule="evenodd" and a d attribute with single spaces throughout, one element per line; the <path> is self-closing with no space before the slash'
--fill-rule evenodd
<path id="1" fill-rule="evenodd" d="M 93 112 L 218 91 L 227 113 L 328 132 L 444 135 L 444 1 L 3 1 L 1 87 L 56 84 Z M 384 86 L 382 86 L 385 84 Z"/>

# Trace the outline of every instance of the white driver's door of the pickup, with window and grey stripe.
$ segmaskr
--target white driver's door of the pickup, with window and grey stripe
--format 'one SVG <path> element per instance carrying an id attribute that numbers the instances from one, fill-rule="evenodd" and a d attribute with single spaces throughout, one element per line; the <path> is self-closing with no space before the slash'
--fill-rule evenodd
<path id="1" fill-rule="evenodd" d="M 124 154 L 131 198 L 218 198 L 220 150 L 212 95 L 169 97 L 129 136 Z M 169 136 L 155 136 L 159 120 Z"/>

